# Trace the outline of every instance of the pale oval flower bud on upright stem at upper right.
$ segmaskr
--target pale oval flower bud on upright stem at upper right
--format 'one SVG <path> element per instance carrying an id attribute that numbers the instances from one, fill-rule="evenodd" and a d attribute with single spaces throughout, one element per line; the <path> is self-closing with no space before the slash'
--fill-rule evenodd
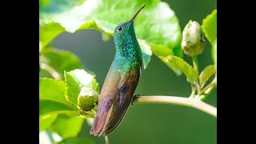
<path id="1" fill-rule="evenodd" d="M 202 54 L 206 41 L 203 39 L 201 26 L 198 22 L 188 22 L 182 31 L 182 50 L 190 57 Z"/>

